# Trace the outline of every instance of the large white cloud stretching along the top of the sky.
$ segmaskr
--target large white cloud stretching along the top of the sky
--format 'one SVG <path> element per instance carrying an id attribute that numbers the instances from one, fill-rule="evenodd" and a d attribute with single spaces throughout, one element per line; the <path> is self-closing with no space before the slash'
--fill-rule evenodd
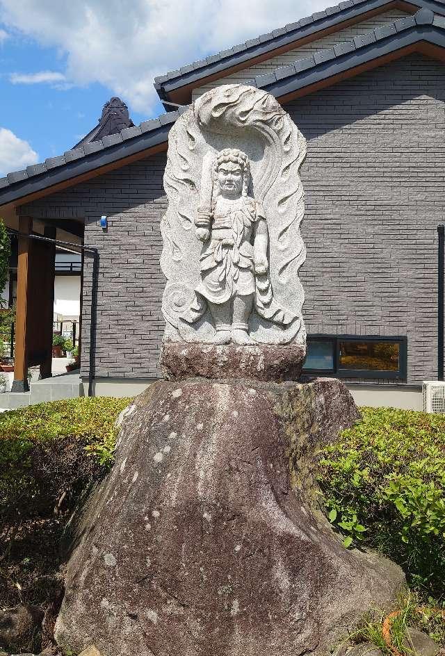
<path id="1" fill-rule="evenodd" d="M 0 0 L 0 19 L 66 57 L 69 83 L 100 82 L 149 115 L 154 76 L 284 26 L 329 0 Z"/>

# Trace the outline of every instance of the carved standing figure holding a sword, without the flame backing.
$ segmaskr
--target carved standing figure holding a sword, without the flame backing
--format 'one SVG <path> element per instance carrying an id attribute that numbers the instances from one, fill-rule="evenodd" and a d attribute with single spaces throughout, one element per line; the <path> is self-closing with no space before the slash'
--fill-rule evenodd
<path id="1" fill-rule="evenodd" d="M 220 151 L 213 162 L 211 206 L 200 207 L 196 236 L 204 297 L 216 328 L 216 344 L 253 343 L 248 319 L 255 294 L 268 290 L 268 229 L 264 210 L 248 195 L 248 157 L 238 149 Z M 203 177 L 205 172 L 203 173 Z M 256 284 L 256 281 L 263 284 Z"/>

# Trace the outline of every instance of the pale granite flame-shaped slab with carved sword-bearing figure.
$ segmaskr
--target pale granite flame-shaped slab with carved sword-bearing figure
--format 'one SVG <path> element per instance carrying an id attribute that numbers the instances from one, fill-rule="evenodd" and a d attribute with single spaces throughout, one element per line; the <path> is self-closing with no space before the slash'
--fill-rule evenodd
<path id="1" fill-rule="evenodd" d="M 223 85 L 172 127 L 161 222 L 165 341 L 305 344 L 305 139 L 268 93 Z"/>

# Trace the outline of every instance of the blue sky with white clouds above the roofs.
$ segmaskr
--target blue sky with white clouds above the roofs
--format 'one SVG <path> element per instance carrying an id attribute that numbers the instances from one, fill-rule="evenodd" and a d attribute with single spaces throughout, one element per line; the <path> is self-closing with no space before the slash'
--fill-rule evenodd
<path id="1" fill-rule="evenodd" d="M 0 175 L 70 149 L 120 96 L 164 110 L 152 81 L 327 0 L 0 0 Z"/>

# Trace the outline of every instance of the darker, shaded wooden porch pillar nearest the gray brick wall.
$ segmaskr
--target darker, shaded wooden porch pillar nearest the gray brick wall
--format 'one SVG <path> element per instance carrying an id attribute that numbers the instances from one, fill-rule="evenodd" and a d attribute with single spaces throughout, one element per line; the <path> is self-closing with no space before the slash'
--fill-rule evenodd
<path id="1" fill-rule="evenodd" d="M 44 237 L 56 239 L 56 228 L 46 226 Z M 44 322 L 44 360 L 40 363 L 40 378 L 51 377 L 53 321 L 54 321 L 54 275 L 56 270 L 56 244 L 40 242 L 47 251 L 45 261 L 45 276 L 41 290 L 42 318 Z"/>

